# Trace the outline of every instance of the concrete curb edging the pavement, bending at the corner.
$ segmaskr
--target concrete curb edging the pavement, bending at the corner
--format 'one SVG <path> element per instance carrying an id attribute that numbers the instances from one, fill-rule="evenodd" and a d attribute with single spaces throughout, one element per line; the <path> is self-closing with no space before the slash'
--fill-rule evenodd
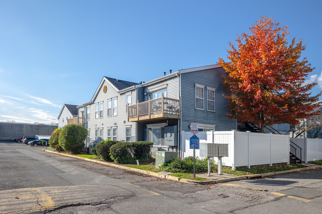
<path id="1" fill-rule="evenodd" d="M 228 181 L 237 181 L 237 180 L 243 180 L 243 179 L 250 179 L 250 178 L 253 178 L 253 177 L 266 177 L 266 176 L 271 176 L 271 175 L 286 174 L 286 173 L 290 173 L 290 172 L 299 172 L 299 171 L 304 171 L 304 170 L 309 170 L 309 169 L 322 168 L 322 166 L 303 167 L 303 168 L 290 169 L 290 170 L 279 171 L 279 172 L 268 172 L 268 173 L 262 173 L 262 174 L 256 174 L 256 175 L 243 175 L 243 176 L 234 176 L 234 177 L 229 177 L 229 178 L 220 178 L 220 179 L 217 179 L 217 180 L 210 180 L 210 181 L 194 181 L 194 180 L 189 180 L 189 179 L 185 179 L 185 178 L 179 179 L 178 177 L 175 177 L 175 176 L 172 176 L 172 175 L 163 175 L 163 174 L 160 174 L 160 173 L 150 172 L 150 171 L 143 170 L 143 169 L 125 167 L 125 166 L 121 166 L 121 165 L 118 165 L 118 164 L 107 163 L 107 162 L 104 162 L 104 161 L 94 160 L 94 159 L 90 159 L 90 158 L 83 158 L 83 157 L 79 157 L 79 156 L 75 156 L 75 155 L 69 155 L 69 154 L 60 153 L 60 152 L 56 152 L 56 151 L 50 151 L 50 150 L 43 150 L 43 151 L 54 153 L 54 154 L 57 154 L 57 155 L 70 157 L 70 158 L 77 158 L 77 159 L 81 159 L 81 160 L 95 162 L 95 163 L 99 163 L 99 164 L 103 164 L 103 165 L 107 165 L 107 166 L 111 166 L 111 167 L 121 168 L 121 169 L 125 169 L 125 170 L 128 170 L 128 171 L 133 171 L 133 172 L 138 172 L 138 173 L 145 174 L 145 175 L 151 175 L 151 176 L 159 177 L 159 178 L 162 178 L 162 179 L 169 179 L 169 180 L 179 181 L 179 182 L 183 182 L 183 183 L 202 184 L 202 185 L 204 185 L 204 184 L 218 184 L 218 183 L 223 183 L 223 182 L 228 182 Z"/>

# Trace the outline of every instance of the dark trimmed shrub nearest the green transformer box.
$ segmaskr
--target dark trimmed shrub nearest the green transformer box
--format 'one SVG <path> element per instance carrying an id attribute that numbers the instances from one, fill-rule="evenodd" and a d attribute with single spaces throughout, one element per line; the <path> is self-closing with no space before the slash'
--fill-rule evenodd
<path id="1" fill-rule="evenodd" d="M 153 142 L 137 141 L 133 143 L 133 156 L 139 161 L 151 159 L 151 149 Z"/>

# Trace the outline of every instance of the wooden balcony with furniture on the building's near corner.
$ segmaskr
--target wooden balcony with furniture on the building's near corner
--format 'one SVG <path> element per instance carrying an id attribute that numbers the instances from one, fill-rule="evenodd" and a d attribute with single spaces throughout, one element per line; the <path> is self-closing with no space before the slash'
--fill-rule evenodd
<path id="1" fill-rule="evenodd" d="M 128 106 L 128 122 L 152 122 L 179 119 L 180 103 L 178 99 L 156 98 Z"/>

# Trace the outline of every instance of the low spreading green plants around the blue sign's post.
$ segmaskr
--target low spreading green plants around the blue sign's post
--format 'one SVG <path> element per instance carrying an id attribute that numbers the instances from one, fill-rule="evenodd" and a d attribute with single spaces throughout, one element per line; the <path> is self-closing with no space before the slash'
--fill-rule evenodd
<path id="1" fill-rule="evenodd" d="M 208 171 L 208 158 L 195 158 L 195 172 L 206 172 Z M 215 172 L 217 166 L 215 166 L 214 162 L 211 160 L 210 163 L 211 172 Z M 184 159 L 172 159 L 167 163 L 164 163 L 160 169 L 165 172 L 185 172 L 185 173 L 193 173 L 194 171 L 194 157 L 189 156 Z"/>

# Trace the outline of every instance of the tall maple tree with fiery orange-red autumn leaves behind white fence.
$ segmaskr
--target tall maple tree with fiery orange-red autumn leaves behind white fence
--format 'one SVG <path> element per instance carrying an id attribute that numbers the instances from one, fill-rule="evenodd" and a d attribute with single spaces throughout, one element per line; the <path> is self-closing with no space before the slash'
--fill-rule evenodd
<path id="1" fill-rule="evenodd" d="M 231 63 L 219 58 L 228 76 L 224 77 L 230 118 L 255 122 L 264 133 L 272 124 L 292 124 L 320 114 L 312 105 L 321 95 L 308 92 L 316 82 L 304 85 L 312 72 L 307 58 L 300 60 L 305 45 L 295 38 L 288 45 L 287 26 L 280 28 L 272 18 L 262 17 L 251 26 L 251 35 L 237 34 L 238 50 L 229 43 L 227 50 Z"/>

